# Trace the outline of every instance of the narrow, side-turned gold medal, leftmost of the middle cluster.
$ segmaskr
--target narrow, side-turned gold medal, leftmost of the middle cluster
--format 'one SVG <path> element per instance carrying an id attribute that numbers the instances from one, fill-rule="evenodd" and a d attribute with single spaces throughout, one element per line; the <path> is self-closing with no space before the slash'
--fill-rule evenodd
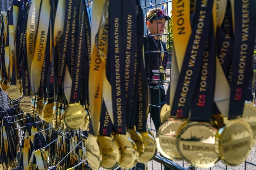
<path id="1" fill-rule="evenodd" d="M 102 153 L 97 141 L 97 137 L 92 134 L 89 134 L 86 140 L 87 161 L 93 170 L 98 169 L 102 161 Z"/>

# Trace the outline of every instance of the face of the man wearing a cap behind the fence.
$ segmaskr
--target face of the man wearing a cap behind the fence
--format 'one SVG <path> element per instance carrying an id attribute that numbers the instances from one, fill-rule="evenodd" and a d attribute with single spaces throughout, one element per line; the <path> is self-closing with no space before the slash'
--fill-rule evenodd
<path id="1" fill-rule="evenodd" d="M 152 35 L 156 34 L 163 34 L 164 27 L 165 27 L 166 19 L 161 18 L 158 20 L 153 20 L 153 23 L 149 22 L 149 31 Z"/>

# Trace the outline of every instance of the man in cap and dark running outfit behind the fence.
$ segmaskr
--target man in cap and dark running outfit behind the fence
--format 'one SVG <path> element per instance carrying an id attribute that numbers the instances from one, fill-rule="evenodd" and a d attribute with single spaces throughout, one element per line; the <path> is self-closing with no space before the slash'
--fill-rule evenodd
<path id="1" fill-rule="evenodd" d="M 150 104 L 156 106 L 163 106 L 165 103 L 164 81 L 161 80 L 165 80 L 168 53 L 163 52 L 167 49 L 160 38 L 164 32 L 166 20 L 170 19 L 160 8 L 149 9 L 146 14 L 149 34 L 144 37 L 145 64 L 148 78 L 150 78 Z M 158 130 L 160 127 L 160 107 L 151 106 L 150 114 L 156 130 Z"/>

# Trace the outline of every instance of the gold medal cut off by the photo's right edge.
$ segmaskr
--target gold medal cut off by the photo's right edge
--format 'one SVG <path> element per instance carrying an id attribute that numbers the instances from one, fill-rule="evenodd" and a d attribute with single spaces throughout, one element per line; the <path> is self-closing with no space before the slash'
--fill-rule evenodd
<path id="1" fill-rule="evenodd" d="M 253 103 L 245 103 L 243 118 L 244 121 L 250 125 L 253 133 L 253 138 L 256 139 L 256 108 Z"/>

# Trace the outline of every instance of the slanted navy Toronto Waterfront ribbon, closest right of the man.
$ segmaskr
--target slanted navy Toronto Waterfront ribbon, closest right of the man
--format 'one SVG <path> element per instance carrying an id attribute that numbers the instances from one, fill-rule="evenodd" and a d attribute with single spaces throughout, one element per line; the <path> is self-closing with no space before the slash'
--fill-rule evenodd
<path id="1" fill-rule="evenodd" d="M 210 31 L 213 1 L 207 4 L 197 1 L 196 6 L 198 8 L 195 11 L 192 33 L 182 63 L 171 108 L 171 116 L 187 118 L 189 115 L 200 72 L 198 68 L 202 65 L 203 52 L 207 41 L 207 39 L 201 39 L 201 37 L 208 36 Z"/>

